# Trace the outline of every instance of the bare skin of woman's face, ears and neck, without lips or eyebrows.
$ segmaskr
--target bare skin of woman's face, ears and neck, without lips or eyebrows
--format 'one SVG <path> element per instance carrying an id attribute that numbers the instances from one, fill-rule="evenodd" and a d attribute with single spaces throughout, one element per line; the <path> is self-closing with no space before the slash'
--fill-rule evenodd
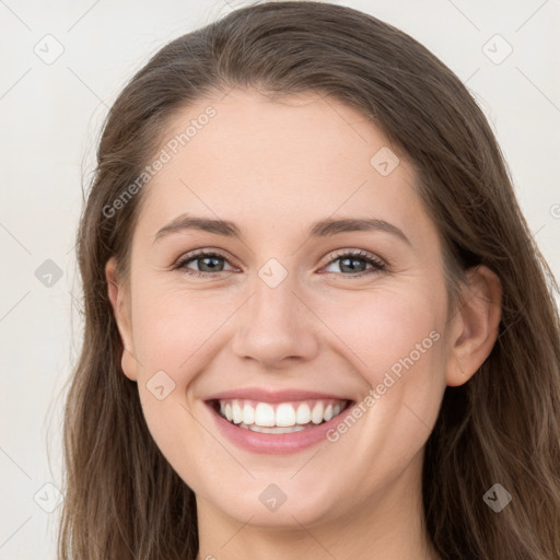
<path id="1" fill-rule="evenodd" d="M 198 560 L 438 559 L 423 525 L 424 445 L 445 386 L 467 382 L 495 342 L 499 280 L 471 271 L 448 317 L 441 243 L 413 170 L 401 158 L 383 176 L 370 163 L 390 145 L 355 110 L 314 93 L 278 103 L 234 90 L 183 109 L 168 138 L 209 105 L 213 119 L 145 187 L 130 282 L 115 259 L 106 267 L 124 373 L 197 498 Z M 243 237 L 188 229 L 155 241 L 186 212 L 234 222 Z M 327 218 L 384 220 L 408 242 L 382 230 L 310 236 Z M 195 249 L 223 258 L 208 271 L 203 257 L 185 262 Z M 386 269 L 358 256 L 352 271 L 341 256 L 357 250 Z M 258 275 L 272 258 L 287 272 L 275 288 Z M 240 387 L 363 402 L 406 357 L 413 364 L 351 429 L 296 453 L 237 446 L 205 404 Z M 162 400 L 147 386 L 160 371 L 175 384 Z M 276 511 L 259 500 L 271 483 L 287 495 Z"/>

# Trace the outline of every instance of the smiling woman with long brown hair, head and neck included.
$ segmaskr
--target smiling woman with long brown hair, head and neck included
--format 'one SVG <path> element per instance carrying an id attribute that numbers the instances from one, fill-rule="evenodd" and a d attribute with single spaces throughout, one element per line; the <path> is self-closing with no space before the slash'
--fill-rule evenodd
<path id="1" fill-rule="evenodd" d="M 236 10 L 138 72 L 97 159 L 61 559 L 560 557 L 555 280 L 423 46 Z"/>

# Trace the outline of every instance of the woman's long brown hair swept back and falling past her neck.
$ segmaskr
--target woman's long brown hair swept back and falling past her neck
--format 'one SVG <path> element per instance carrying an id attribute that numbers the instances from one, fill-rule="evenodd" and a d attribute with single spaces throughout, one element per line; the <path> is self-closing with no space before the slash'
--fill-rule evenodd
<path id="1" fill-rule="evenodd" d="M 314 91 L 358 109 L 411 162 L 443 241 L 451 302 L 470 267 L 502 283 L 499 338 L 479 371 L 447 387 L 424 457 L 423 506 L 443 559 L 551 560 L 560 553 L 558 285 L 522 215 L 494 136 L 457 77 L 407 34 L 340 5 L 238 9 L 162 48 L 104 125 L 78 232 L 84 339 L 65 410 L 62 560 L 195 559 L 194 492 L 148 430 L 105 264 L 126 275 L 149 185 L 109 212 L 158 150 L 178 109 L 205 94 Z M 214 126 L 217 120 L 213 121 Z M 494 483 L 513 497 L 500 513 Z"/>

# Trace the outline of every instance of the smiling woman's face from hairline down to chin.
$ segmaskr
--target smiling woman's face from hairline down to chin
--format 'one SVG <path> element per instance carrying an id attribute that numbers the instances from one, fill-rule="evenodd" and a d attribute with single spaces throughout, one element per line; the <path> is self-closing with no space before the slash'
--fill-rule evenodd
<path id="1" fill-rule="evenodd" d="M 243 523 L 397 503 L 458 332 L 411 166 L 313 93 L 201 100 L 162 150 L 112 298 L 155 443 L 200 506 Z"/>

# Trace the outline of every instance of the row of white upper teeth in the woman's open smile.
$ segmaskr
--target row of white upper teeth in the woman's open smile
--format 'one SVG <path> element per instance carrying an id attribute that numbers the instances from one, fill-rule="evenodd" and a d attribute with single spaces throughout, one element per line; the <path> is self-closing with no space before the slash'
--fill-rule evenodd
<path id="1" fill-rule="evenodd" d="M 342 411 L 347 402 L 325 399 L 270 405 L 245 399 L 223 399 L 220 400 L 220 412 L 240 428 L 264 433 L 289 433 L 328 422 Z"/>

